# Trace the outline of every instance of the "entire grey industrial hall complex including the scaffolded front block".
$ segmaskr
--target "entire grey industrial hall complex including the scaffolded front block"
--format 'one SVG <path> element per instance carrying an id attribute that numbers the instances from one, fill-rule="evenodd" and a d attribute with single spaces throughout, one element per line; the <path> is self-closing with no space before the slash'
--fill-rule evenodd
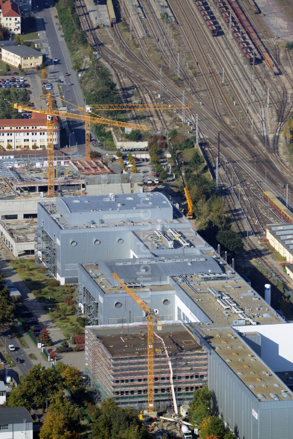
<path id="1" fill-rule="evenodd" d="M 98 398 L 147 405 L 146 318 L 113 273 L 159 316 L 155 409 L 214 392 L 241 438 L 293 437 L 293 349 L 287 323 L 161 193 L 57 198 L 38 205 L 37 255 L 77 284 L 87 317 L 85 370 Z"/>

